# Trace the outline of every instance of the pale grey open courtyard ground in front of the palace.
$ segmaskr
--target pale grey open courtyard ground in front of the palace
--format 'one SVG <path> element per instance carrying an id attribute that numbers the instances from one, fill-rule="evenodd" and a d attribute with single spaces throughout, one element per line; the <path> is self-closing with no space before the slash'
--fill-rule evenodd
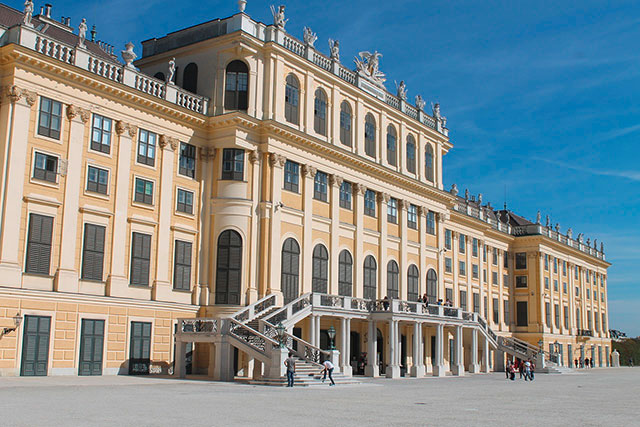
<path id="1" fill-rule="evenodd" d="M 637 425 L 640 369 L 271 388 L 149 377 L 0 378 L 2 426 Z"/>

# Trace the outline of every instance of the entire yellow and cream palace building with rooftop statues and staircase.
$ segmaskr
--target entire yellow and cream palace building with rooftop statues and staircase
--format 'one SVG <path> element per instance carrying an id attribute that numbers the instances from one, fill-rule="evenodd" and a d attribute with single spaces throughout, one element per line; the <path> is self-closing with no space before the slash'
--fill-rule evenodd
<path id="1" fill-rule="evenodd" d="M 609 366 L 602 246 L 445 190 L 446 119 L 377 52 L 276 10 L 123 64 L 63 21 L 0 5 L 0 375 Z"/>

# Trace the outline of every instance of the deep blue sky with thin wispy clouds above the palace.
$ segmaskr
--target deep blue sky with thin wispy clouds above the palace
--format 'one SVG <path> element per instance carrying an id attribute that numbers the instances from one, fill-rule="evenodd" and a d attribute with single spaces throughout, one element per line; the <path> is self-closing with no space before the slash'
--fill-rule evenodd
<path id="1" fill-rule="evenodd" d="M 10 1 L 22 9 L 23 1 Z M 36 2 L 36 9 L 45 2 Z M 237 11 L 235 0 L 54 1 L 117 51 Z M 266 1 L 247 13 L 271 22 Z M 610 327 L 640 335 L 640 4 L 637 1 L 290 0 L 288 32 L 360 50 L 409 97 L 441 103 L 453 150 L 445 185 L 604 241 Z M 181 7 L 178 8 L 177 5 Z M 635 267 L 635 269 L 634 269 Z"/>

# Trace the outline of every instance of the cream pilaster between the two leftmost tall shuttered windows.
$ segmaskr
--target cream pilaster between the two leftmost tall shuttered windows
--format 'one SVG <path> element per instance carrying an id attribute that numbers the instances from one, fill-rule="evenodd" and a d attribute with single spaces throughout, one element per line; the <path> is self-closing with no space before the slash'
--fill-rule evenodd
<path id="1" fill-rule="evenodd" d="M 69 144 L 67 147 L 67 176 L 64 184 L 62 207 L 62 236 L 60 239 L 60 266 L 56 272 L 54 289 L 59 292 L 78 292 L 76 250 L 78 234 L 78 206 L 82 191 L 82 153 L 84 127 L 91 112 L 67 105 Z"/>

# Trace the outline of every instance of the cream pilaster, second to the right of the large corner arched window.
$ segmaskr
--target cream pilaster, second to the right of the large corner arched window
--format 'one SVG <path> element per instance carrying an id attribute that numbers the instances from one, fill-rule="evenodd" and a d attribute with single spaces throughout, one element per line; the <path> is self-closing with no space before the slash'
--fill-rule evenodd
<path id="1" fill-rule="evenodd" d="M 280 267 L 282 243 L 280 238 L 280 228 L 282 221 L 282 167 L 286 158 L 280 154 L 271 153 L 269 156 L 269 166 L 271 166 L 271 230 L 269 241 L 271 280 L 267 283 L 266 294 L 276 294 L 278 305 L 282 305 L 282 290 L 280 289 Z"/>

